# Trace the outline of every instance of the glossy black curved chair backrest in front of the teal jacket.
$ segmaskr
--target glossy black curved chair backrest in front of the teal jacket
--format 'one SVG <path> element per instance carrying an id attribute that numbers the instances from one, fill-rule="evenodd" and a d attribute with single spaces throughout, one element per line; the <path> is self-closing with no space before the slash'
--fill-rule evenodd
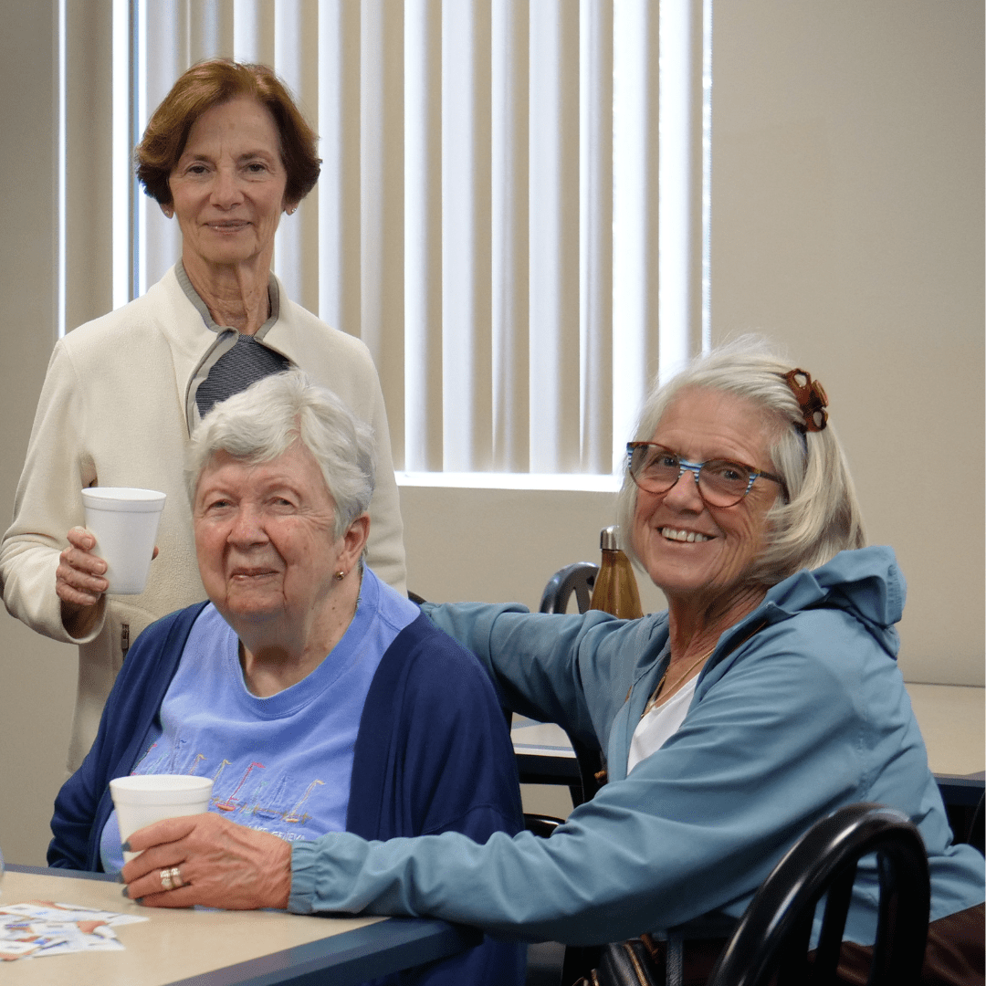
<path id="1" fill-rule="evenodd" d="M 928 936 L 931 885 L 917 828 L 901 811 L 849 805 L 816 822 L 764 880 L 740 918 L 709 986 L 835 983 L 856 865 L 876 853 L 880 915 L 869 986 L 917 983 Z M 813 964 L 815 905 L 827 892 Z"/>

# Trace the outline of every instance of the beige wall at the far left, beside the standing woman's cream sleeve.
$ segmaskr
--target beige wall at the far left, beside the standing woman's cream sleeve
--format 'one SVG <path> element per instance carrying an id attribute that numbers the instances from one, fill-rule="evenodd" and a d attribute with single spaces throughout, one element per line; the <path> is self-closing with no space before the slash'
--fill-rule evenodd
<path id="1" fill-rule="evenodd" d="M 0 6 L 0 526 L 14 504 L 35 402 L 55 338 L 53 4 Z M 0 849 L 40 863 L 65 777 L 75 649 L 0 609 Z"/>

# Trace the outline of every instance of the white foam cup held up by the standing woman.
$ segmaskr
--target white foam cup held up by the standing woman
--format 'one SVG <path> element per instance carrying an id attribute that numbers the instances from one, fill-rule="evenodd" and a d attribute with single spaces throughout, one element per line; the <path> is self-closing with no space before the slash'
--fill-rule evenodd
<path id="1" fill-rule="evenodd" d="M 93 554 L 106 560 L 107 593 L 144 592 L 166 499 L 157 490 L 131 486 L 87 486 L 82 491 L 86 527 L 96 537 Z"/>

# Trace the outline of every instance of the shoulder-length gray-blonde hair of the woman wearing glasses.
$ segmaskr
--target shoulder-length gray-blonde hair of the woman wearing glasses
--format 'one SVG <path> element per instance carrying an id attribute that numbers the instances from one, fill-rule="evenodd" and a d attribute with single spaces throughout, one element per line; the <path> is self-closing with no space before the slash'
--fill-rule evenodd
<path id="1" fill-rule="evenodd" d="M 846 548 L 866 544 L 859 502 L 846 457 L 829 421 L 822 431 L 806 433 L 794 392 L 785 381 L 794 367 L 768 351 L 754 336 L 742 336 L 695 359 L 664 387 L 652 391 L 641 412 L 634 441 L 649 442 L 671 401 L 684 389 L 708 387 L 745 397 L 775 418 L 769 449 L 774 471 L 784 480 L 768 521 L 768 544 L 754 565 L 754 578 L 772 586 L 801 569 L 817 568 Z M 617 498 L 623 547 L 633 550 L 633 518 L 638 488 L 627 471 Z"/>

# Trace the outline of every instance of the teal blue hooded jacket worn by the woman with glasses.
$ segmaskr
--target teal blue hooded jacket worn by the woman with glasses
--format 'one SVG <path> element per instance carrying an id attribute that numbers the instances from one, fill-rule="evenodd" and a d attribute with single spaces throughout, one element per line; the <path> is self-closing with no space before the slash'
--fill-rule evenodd
<path id="1" fill-rule="evenodd" d="M 666 612 L 623 621 L 426 605 L 486 665 L 506 707 L 601 746 L 609 783 L 550 839 L 296 843 L 289 906 L 616 941 L 712 912 L 739 917 L 814 821 L 855 802 L 900 809 L 919 827 L 933 920 L 980 903 L 983 857 L 951 842 L 896 663 L 904 594 L 886 547 L 844 551 L 774 586 L 720 638 L 678 731 L 629 776 L 633 731 L 668 661 Z M 872 943 L 877 900 L 864 860 L 848 940 Z"/>

